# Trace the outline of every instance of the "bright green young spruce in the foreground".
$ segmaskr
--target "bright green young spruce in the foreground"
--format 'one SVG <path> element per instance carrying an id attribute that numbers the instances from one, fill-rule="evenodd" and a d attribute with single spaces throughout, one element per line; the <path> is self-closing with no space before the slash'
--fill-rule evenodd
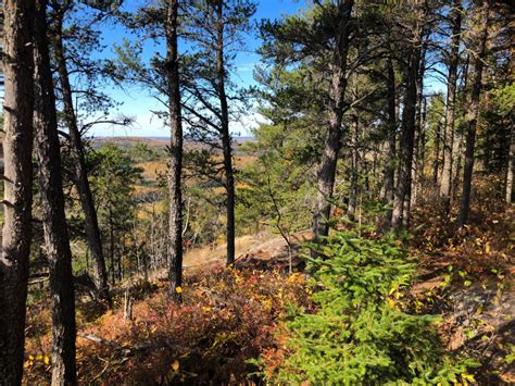
<path id="1" fill-rule="evenodd" d="M 311 262 L 315 312 L 287 316 L 281 363 L 266 363 L 274 383 L 438 384 L 466 379 L 472 363 L 445 353 L 431 315 L 411 315 L 399 299 L 415 265 L 392 237 L 337 233 Z M 272 371 L 271 371 L 272 368 Z"/>

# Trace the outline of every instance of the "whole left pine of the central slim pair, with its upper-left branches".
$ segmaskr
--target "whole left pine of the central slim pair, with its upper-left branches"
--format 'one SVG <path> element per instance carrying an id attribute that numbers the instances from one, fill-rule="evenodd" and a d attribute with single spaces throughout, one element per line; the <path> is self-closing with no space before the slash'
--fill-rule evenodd
<path id="1" fill-rule="evenodd" d="M 141 45 L 131 46 L 127 40 L 117 47 L 118 63 L 113 65 L 113 75 L 121 82 L 150 88 L 151 94 L 164 104 L 166 111 L 158 112 L 171 128 L 167 174 L 168 192 L 168 248 L 167 264 L 171 282 L 169 294 L 180 300 L 183 283 L 183 112 L 180 61 L 178 52 L 179 1 L 160 1 L 146 5 L 123 20 L 131 29 L 145 34 L 148 39 L 164 38 L 166 54 L 155 54 L 150 63 L 140 58 Z M 163 99 L 163 96 L 165 97 Z"/>

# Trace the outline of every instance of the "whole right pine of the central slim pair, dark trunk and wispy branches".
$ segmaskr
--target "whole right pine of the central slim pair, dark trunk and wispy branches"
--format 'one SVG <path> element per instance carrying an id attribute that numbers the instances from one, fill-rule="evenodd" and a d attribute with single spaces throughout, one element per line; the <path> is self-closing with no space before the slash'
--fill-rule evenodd
<path id="1" fill-rule="evenodd" d="M 247 99 L 230 72 L 243 34 L 250 32 L 249 18 L 255 8 L 253 0 L 199 0 L 191 1 L 185 14 L 185 34 L 192 45 L 192 53 L 184 61 L 185 120 L 189 136 L 210 148 L 189 158 L 200 162 L 193 166 L 196 171 L 216 179 L 225 189 L 227 265 L 235 261 L 236 235 L 230 124 Z M 219 153 L 222 162 L 216 159 Z"/>

